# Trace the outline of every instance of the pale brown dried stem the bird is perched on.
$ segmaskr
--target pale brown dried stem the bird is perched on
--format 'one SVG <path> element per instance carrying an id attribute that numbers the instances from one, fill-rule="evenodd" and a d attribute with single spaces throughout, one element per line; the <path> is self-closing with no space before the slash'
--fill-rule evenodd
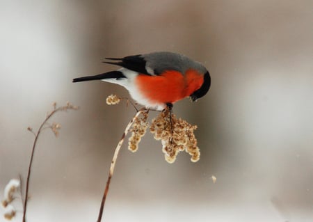
<path id="1" fill-rule="evenodd" d="M 143 111 L 145 111 L 145 108 L 142 108 L 139 111 L 137 111 L 136 115 L 130 120 L 130 122 L 128 123 L 127 127 L 125 128 L 124 133 L 122 134 L 122 138 L 120 138 L 120 141 L 118 142 L 118 145 L 115 148 L 115 152 L 114 152 L 114 155 L 113 155 L 113 158 L 112 158 L 112 161 L 111 161 L 111 166 L 110 166 L 108 180 L 106 181 L 106 187 L 104 189 L 104 194 L 102 196 L 102 201 L 101 201 L 101 205 L 100 205 L 100 209 L 99 209 L 99 215 L 98 215 L 97 222 L 101 222 L 101 219 L 102 219 L 104 203 L 106 202 L 106 196 L 108 195 L 108 192 L 109 192 L 110 182 L 111 182 L 111 178 L 113 176 L 115 163 L 116 163 L 116 160 L 118 159 L 118 153 L 120 152 L 120 148 L 122 147 L 122 144 L 123 144 L 123 142 L 125 140 L 125 136 L 128 134 L 131 125 L 133 125 L 133 123 L 134 123 L 134 120 L 136 120 L 136 118 L 138 118 L 138 116 L 141 113 L 143 113 Z"/>

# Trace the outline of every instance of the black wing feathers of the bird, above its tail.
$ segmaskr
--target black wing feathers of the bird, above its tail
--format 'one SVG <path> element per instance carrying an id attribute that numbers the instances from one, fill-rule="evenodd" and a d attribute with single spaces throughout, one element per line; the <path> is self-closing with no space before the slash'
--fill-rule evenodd
<path id="1" fill-rule="evenodd" d="M 122 66 L 124 68 L 127 68 L 128 70 L 139 72 L 141 74 L 151 75 L 145 69 L 146 61 L 143 58 L 143 56 L 141 56 L 141 55 L 126 56 L 124 58 L 106 58 L 106 59 L 117 61 L 117 62 L 103 62 L 103 63 L 113 64 L 113 65 L 120 65 L 120 66 Z"/>

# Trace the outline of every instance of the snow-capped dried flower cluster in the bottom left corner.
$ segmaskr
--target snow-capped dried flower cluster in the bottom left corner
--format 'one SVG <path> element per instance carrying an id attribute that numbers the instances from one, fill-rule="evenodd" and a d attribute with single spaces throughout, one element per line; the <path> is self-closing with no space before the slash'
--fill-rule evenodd
<path id="1" fill-rule="evenodd" d="M 7 220 L 13 219 L 16 214 L 16 210 L 11 203 L 15 198 L 14 194 L 17 192 L 19 185 L 19 180 L 13 179 L 8 182 L 4 189 L 4 199 L 1 201 L 1 205 L 4 208 L 4 218 Z"/>

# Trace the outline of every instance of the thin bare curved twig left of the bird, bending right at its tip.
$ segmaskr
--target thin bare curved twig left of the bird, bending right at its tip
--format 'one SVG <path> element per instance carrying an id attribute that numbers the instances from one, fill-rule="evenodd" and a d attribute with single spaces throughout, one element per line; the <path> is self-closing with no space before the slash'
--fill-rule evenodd
<path id="1" fill-rule="evenodd" d="M 38 129 L 38 132 L 36 134 L 33 132 L 33 129 L 31 127 L 27 128 L 30 132 L 32 132 L 35 135 L 35 140 L 33 141 L 33 148 L 31 149 L 31 159 L 29 161 L 29 170 L 28 170 L 27 179 L 26 179 L 26 188 L 25 188 L 24 205 L 23 205 L 23 209 L 24 210 L 23 210 L 23 219 L 22 219 L 23 222 L 26 221 L 27 200 L 29 198 L 29 180 L 30 180 L 30 177 L 31 177 L 31 166 L 33 164 L 33 154 L 35 152 L 35 146 L 36 146 L 36 143 L 38 141 L 38 137 L 39 137 L 40 133 L 42 132 L 42 130 L 45 129 L 45 128 L 42 128 L 42 127 L 45 126 L 45 124 L 47 123 L 49 118 L 51 118 L 51 116 L 54 116 L 54 114 L 56 112 L 58 112 L 58 111 L 67 111 L 69 109 L 74 109 L 74 110 L 78 109 L 77 106 L 73 106 L 69 102 L 67 102 L 66 106 L 61 106 L 61 107 L 58 107 L 58 108 L 56 108 L 56 103 L 54 102 L 53 106 L 54 106 L 54 110 L 51 111 L 50 113 L 47 113 L 47 117 L 45 118 L 45 120 L 40 125 L 40 127 Z"/>

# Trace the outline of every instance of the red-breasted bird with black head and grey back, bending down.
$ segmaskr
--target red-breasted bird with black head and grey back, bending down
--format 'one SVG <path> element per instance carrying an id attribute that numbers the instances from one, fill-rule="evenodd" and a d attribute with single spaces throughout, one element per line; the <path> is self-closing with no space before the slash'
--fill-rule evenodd
<path id="1" fill-rule="evenodd" d="M 163 110 L 185 97 L 193 102 L 207 94 L 211 77 L 207 68 L 183 54 L 157 51 L 122 58 L 106 58 L 103 63 L 120 69 L 73 82 L 102 80 L 125 87 L 131 97 L 147 109 Z"/>

